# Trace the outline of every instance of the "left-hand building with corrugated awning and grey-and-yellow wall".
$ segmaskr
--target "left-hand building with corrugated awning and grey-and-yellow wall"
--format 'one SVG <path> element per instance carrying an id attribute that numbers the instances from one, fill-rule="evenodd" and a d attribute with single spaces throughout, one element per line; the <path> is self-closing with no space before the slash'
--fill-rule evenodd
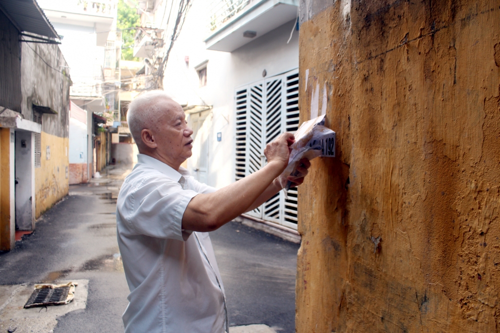
<path id="1" fill-rule="evenodd" d="M 69 77 L 35 1 L 0 0 L 0 250 L 68 193 Z"/>

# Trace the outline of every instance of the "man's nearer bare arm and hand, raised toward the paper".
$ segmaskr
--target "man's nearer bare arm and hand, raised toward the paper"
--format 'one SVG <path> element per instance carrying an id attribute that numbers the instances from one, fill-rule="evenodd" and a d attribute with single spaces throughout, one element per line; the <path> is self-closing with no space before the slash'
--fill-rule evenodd
<path id="1" fill-rule="evenodd" d="M 182 229 L 213 231 L 247 212 L 288 164 L 293 135 L 283 133 L 267 144 L 267 165 L 218 191 L 198 194 L 191 199 L 182 216 Z"/>

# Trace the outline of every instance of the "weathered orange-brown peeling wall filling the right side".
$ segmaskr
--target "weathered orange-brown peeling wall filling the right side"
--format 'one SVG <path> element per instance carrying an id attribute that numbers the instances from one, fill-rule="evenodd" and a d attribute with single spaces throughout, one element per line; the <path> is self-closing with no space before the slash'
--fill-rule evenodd
<path id="1" fill-rule="evenodd" d="M 326 86 L 338 157 L 299 189 L 297 332 L 500 332 L 500 4 L 300 17 L 301 120 Z"/>

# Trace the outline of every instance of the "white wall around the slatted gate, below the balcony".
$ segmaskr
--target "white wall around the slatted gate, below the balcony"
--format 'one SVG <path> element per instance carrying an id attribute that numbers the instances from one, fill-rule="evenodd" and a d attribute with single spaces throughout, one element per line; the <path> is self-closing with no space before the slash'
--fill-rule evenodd
<path id="1" fill-rule="evenodd" d="M 206 50 L 202 31 L 206 30 L 208 4 L 209 1 L 196 1 L 189 10 L 172 48 L 163 85 L 164 90 L 181 104 L 204 102 L 213 106 L 207 184 L 220 188 L 234 181 L 235 88 L 262 79 L 264 69 L 269 77 L 297 68 L 298 31 L 293 32 L 287 44 L 294 26 L 294 21 L 290 21 L 231 53 Z M 184 62 L 186 55 L 189 56 L 189 68 Z M 205 60 L 208 60 L 207 84 L 199 87 L 194 66 Z M 220 142 L 216 140 L 217 132 L 222 133 Z M 193 145 L 199 144 L 198 141 L 195 138 Z M 188 161 L 191 173 L 192 165 Z"/>

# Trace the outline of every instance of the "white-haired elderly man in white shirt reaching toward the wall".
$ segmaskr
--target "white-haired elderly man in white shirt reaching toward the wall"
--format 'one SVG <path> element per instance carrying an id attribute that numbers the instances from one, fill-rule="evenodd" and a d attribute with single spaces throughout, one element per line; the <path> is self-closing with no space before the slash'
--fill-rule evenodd
<path id="1" fill-rule="evenodd" d="M 267 145 L 261 170 L 216 190 L 180 167 L 191 156 L 192 130 L 182 107 L 164 92 L 135 98 L 127 122 L 139 154 L 116 206 L 130 289 L 125 332 L 227 332 L 224 289 L 207 232 L 280 190 L 274 180 L 288 163 L 293 135 L 281 134 Z M 302 163 L 300 171 L 306 174 L 310 164 Z"/>

